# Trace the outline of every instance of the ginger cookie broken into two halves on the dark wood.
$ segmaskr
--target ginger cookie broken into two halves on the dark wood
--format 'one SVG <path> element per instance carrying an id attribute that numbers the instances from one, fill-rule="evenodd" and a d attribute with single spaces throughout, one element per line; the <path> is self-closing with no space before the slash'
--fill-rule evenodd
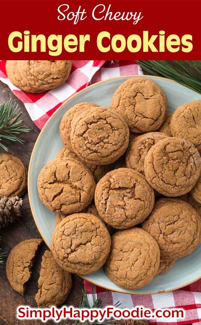
<path id="1" fill-rule="evenodd" d="M 32 274 L 35 255 L 42 243 L 41 239 L 23 240 L 10 251 L 6 274 L 11 287 L 24 294 L 26 283 Z M 59 306 L 67 298 L 72 287 L 71 273 L 64 271 L 54 260 L 52 253 L 45 251 L 42 257 L 38 292 L 35 300 L 38 307 Z"/>

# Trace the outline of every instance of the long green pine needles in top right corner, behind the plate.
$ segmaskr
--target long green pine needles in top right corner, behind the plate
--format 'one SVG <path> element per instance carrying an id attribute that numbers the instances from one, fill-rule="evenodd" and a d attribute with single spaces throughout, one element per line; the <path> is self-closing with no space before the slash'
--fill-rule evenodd
<path id="1" fill-rule="evenodd" d="M 172 79 L 201 92 L 201 61 L 137 61 L 144 74 Z"/>

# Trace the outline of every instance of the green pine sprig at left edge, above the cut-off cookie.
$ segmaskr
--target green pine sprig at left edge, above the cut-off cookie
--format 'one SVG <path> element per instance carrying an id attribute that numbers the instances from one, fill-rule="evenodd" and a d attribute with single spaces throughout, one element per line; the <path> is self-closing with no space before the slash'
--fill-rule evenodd
<path id="1" fill-rule="evenodd" d="M 12 141 L 24 143 L 24 140 L 17 135 L 31 131 L 22 120 L 19 120 L 21 114 L 18 105 L 16 103 L 13 105 L 11 100 L 0 104 L 0 147 L 6 151 L 8 151 L 7 144 Z"/>

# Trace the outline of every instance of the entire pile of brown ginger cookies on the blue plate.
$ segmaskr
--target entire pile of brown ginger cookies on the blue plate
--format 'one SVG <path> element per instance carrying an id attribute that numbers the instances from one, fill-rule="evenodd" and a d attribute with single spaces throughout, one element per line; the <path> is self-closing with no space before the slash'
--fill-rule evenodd
<path id="1" fill-rule="evenodd" d="M 201 239 L 201 100 L 167 115 L 163 90 L 131 78 L 110 107 L 79 103 L 63 115 L 64 144 L 38 176 L 57 213 L 51 251 L 67 273 L 104 266 L 137 289 L 192 253 Z"/>

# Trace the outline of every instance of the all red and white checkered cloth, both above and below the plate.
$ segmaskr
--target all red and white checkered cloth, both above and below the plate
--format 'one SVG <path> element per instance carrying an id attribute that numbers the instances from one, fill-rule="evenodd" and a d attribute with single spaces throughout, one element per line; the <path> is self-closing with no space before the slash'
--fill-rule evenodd
<path id="1" fill-rule="evenodd" d="M 73 61 L 72 71 L 69 79 L 59 87 L 42 94 L 28 94 L 14 86 L 6 75 L 6 61 L 0 61 L 0 80 L 7 84 L 20 100 L 24 103 L 31 119 L 42 129 L 48 118 L 55 110 L 70 96 L 89 84 L 123 75 L 142 74 L 140 67 L 133 61 L 120 61 L 111 64 L 109 61 Z M 89 302 L 92 302 L 91 284 L 84 281 Z M 95 288 L 97 295 L 103 295 L 105 290 Z M 105 301 L 106 305 L 113 305 L 120 301 L 120 307 L 133 308 L 143 305 L 145 308 L 184 308 L 186 311 L 185 320 L 177 319 L 175 322 L 165 321 L 166 325 L 196 323 L 201 321 L 201 280 L 173 292 L 149 294 L 149 295 L 130 295 L 118 292 L 109 292 Z M 161 325 L 164 322 L 152 323 Z"/>

